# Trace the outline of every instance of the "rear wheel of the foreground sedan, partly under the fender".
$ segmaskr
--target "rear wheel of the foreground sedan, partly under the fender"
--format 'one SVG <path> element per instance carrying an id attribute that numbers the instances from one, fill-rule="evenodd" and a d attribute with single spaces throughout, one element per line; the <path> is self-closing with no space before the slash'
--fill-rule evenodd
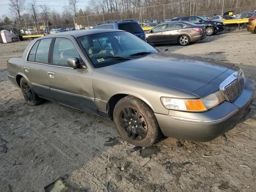
<path id="1" fill-rule="evenodd" d="M 27 104 L 34 106 L 43 102 L 43 99 L 33 91 L 31 83 L 24 77 L 20 79 L 20 89 Z"/>

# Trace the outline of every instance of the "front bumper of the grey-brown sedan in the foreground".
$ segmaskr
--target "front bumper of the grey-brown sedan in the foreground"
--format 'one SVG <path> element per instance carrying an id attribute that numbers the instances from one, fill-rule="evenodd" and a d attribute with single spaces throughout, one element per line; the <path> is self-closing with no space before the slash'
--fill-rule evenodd
<path id="1" fill-rule="evenodd" d="M 223 102 L 206 112 L 170 110 L 169 115 L 155 114 L 162 133 L 168 137 L 206 142 L 234 128 L 250 111 L 254 83 L 245 78 L 245 87 L 234 102 Z"/>

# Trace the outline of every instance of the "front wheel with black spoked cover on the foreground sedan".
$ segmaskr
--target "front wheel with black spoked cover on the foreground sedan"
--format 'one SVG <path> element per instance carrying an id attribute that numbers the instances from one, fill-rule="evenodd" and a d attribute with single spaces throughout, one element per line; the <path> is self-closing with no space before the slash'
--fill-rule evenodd
<path id="1" fill-rule="evenodd" d="M 134 146 L 152 146 L 160 134 L 152 110 L 134 96 L 126 96 L 117 102 L 113 119 L 121 138 Z"/>

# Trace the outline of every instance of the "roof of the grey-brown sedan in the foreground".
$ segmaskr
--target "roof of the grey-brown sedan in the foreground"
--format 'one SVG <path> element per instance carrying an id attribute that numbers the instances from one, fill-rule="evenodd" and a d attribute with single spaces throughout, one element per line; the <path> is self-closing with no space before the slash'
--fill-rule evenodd
<path id="1" fill-rule="evenodd" d="M 116 30 L 116 29 L 82 29 L 82 30 L 74 30 L 74 31 L 65 31 L 61 33 L 51 34 L 44 37 L 57 37 L 57 36 L 63 36 L 63 35 L 71 35 L 74 37 L 80 37 L 84 35 L 92 35 L 92 34 L 98 34 L 98 33 L 106 33 L 106 32 L 117 32 L 122 30 Z"/>

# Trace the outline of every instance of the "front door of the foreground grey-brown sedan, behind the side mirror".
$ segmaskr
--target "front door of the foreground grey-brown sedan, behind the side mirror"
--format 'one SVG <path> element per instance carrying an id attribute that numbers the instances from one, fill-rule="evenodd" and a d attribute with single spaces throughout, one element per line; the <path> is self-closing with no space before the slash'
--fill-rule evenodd
<path id="1" fill-rule="evenodd" d="M 83 63 L 72 40 L 56 38 L 52 51 L 52 65 L 48 69 L 50 92 L 58 103 L 97 114 L 91 73 L 68 66 L 67 59 L 70 57 L 78 58 L 80 63 Z"/>

